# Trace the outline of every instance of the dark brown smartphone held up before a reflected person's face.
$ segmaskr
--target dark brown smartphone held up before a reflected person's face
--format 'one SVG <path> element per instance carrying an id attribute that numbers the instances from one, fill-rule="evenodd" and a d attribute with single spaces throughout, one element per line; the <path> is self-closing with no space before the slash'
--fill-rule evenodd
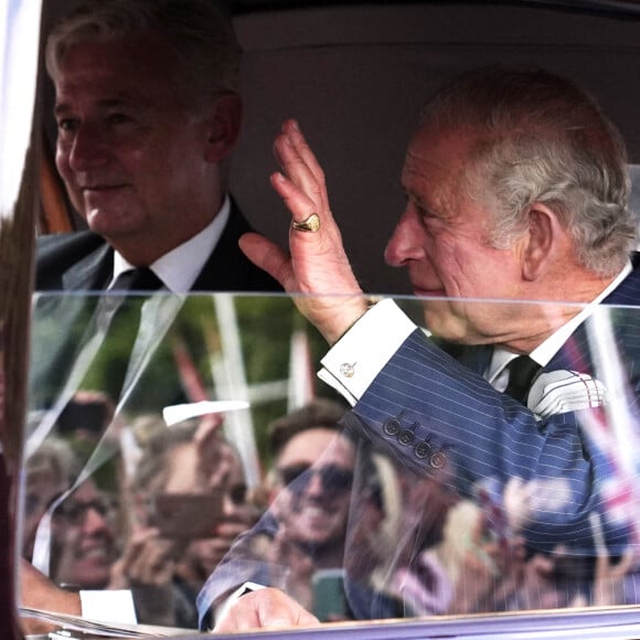
<path id="1" fill-rule="evenodd" d="M 156 493 L 151 523 L 163 537 L 212 537 L 223 515 L 222 490 L 207 493 Z"/>

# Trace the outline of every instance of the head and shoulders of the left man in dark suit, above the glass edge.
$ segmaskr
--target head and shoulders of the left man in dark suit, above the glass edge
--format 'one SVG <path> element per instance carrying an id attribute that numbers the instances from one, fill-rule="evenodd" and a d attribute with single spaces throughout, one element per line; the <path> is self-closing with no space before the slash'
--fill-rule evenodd
<path id="1" fill-rule="evenodd" d="M 239 45 L 205 0 L 89 2 L 50 34 L 56 167 L 89 232 L 40 238 L 36 290 L 102 290 L 132 267 L 163 288 L 278 290 L 237 247 L 227 195 Z"/>

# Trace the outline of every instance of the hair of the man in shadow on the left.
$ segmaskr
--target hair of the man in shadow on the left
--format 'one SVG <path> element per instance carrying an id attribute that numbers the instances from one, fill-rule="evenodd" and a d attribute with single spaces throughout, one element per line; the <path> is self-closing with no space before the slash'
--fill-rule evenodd
<path id="1" fill-rule="evenodd" d="M 55 79 L 77 42 L 147 33 L 159 34 L 171 47 L 175 82 L 192 99 L 237 93 L 241 46 L 228 17 L 213 0 L 89 0 L 49 35 L 46 70 Z"/>

